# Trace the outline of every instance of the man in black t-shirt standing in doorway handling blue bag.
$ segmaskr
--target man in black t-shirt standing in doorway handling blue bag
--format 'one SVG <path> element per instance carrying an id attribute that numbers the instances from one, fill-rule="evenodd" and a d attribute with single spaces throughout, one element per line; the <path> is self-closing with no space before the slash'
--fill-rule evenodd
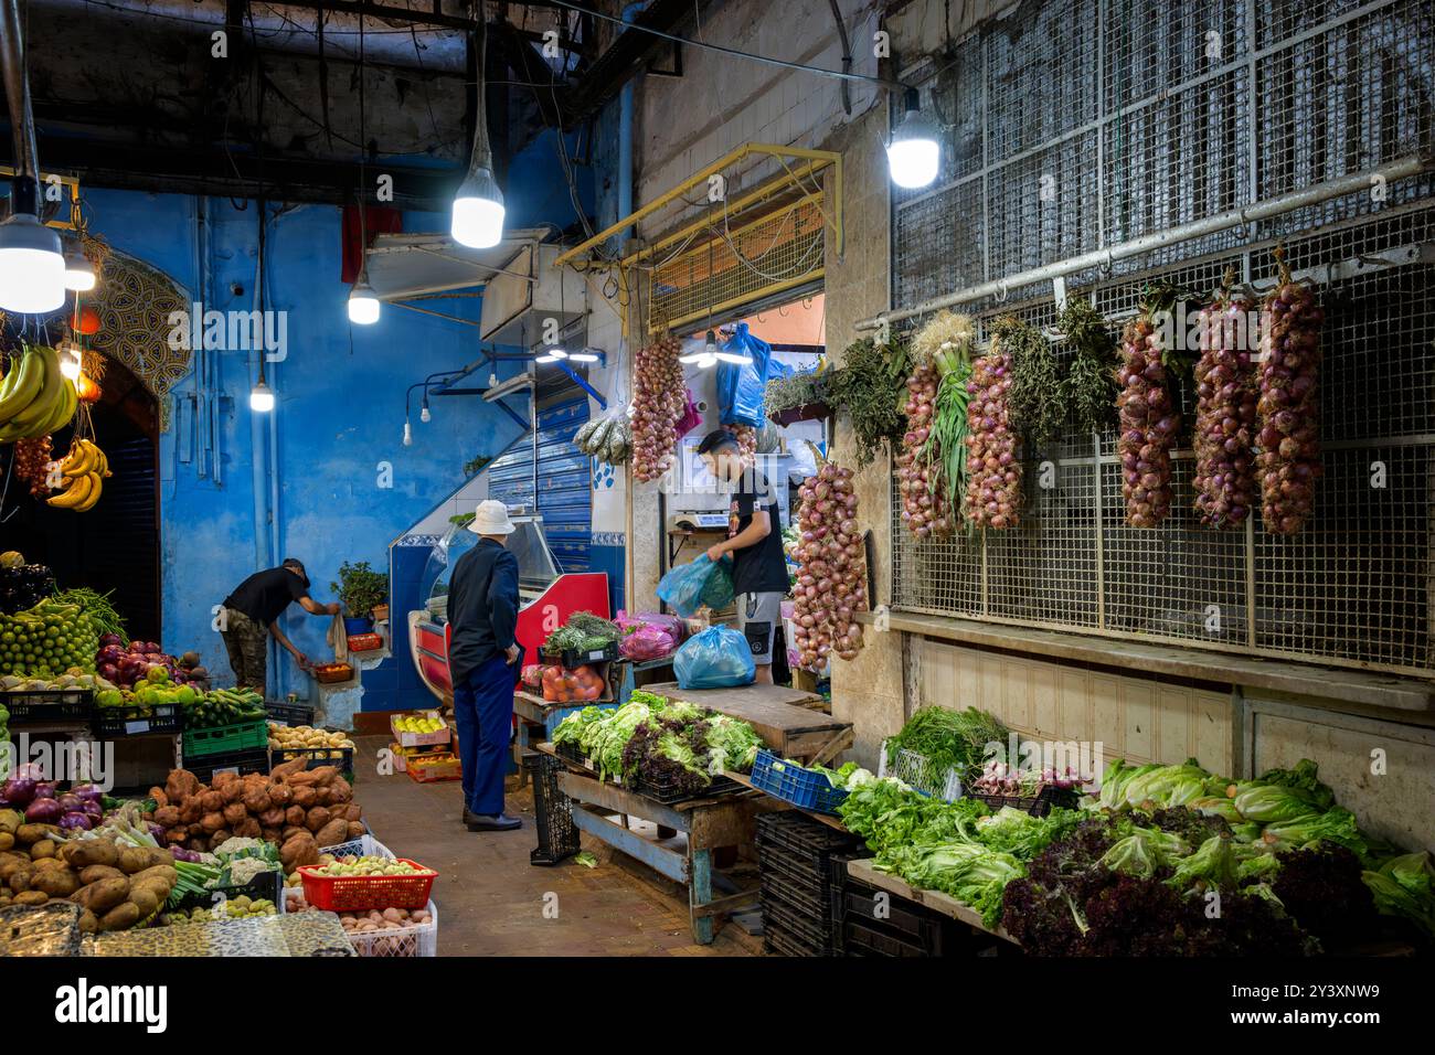
<path id="1" fill-rule="evenodd" d="M 707 560 L 716 563 L 725 553 L 732 554 L 738 627 L 758 665 L 756 680 L 772 685 L 772 639 L 782 620 L 782 599 L 788 593 L 776 491 L 761 472 L 743 466 L 742 448 L 728 429 L 709 432 L 697 445 L 697 454 L 719 482 L 735 488 L 738 530 L 730 538 L 709 547 Z"/>

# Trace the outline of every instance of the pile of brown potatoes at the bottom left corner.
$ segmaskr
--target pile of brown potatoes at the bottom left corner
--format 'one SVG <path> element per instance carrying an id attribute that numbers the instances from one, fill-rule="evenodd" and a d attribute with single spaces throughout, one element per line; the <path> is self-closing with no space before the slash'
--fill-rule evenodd
<path id="1" fill-rule="evenodd" d="M 9 818 L 0 817 L 0 825 L 9 827 Z M 6 834 L 14 848 L 0 851 L 0 907 L 69 900 L 80 907 L 86 933 L 148 922 L 179 881 L 168 850 L 110 838 L 57 843 L 59 828 L 47 824 L 20 824 Z"/>

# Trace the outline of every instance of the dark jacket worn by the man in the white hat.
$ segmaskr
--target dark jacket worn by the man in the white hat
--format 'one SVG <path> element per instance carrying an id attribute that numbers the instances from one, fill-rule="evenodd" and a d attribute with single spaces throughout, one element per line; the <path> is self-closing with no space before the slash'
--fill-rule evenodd
<path id="1" fill-rule="evenodd" d="M 518 627 L 518 558 L 491 538 L 458 558 L 449 578 L 449 675 L 453 688 L 514 643 Z"/>

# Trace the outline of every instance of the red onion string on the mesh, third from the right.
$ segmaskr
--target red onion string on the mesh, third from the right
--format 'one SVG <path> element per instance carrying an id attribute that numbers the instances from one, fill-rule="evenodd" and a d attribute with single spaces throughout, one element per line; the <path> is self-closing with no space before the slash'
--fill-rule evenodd
<path id="1" fill-rule="evenodd" d="M 1181 429 L 1181 411 L 1167 389 L 1170 373 L 1162 363 L 1161 337 L 1142 313 L 1121 334 L 1121 494 L 1126 522 L 1151 528 L 1171 512 L 1171 451 Z"/>

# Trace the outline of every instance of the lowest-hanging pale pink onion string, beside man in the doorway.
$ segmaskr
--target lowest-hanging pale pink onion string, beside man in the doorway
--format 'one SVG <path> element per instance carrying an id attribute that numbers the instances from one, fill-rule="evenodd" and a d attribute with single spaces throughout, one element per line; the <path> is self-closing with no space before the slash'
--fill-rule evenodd
<path id="1" fill-rule="evenodd" d="M 857 613 L 867 611 L 867 554 L 851 469 L 825 462 L 798 495 L 802 535 L 794 553 L 799 568 L 792 622 L 799 662 L 817 670 L 829 655 L 851 660 L 862 647 Z"/>

